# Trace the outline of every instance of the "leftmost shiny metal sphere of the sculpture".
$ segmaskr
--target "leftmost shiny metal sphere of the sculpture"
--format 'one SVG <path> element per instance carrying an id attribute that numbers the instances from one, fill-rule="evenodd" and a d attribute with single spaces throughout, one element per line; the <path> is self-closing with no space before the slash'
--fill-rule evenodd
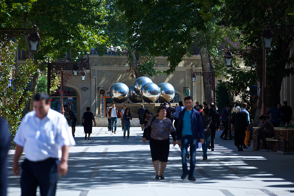
<path id="1" fill-rule="evenodd" d="M 129 88 L 124 83 L 115 83 L 109 90 L 110 98 L 116 103 L 122 103 L 128 99 Z"/>

